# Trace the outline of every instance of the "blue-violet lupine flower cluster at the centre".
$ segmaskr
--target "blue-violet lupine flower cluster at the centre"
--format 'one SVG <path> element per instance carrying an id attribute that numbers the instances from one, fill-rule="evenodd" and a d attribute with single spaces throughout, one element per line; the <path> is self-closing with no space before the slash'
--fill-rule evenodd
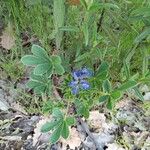
<path id="1" fill-rule="evenodd" d="M 85 79 L 91 77 L 92 75 L 92 71 L 87 68 L 82 68 L 80 70 L 74 71 L 72 73 L 73 80 L 69 83 L 72 94 L 78 94 L 80 89 L 88 90 L 90 88 L 90 84 Z"/>

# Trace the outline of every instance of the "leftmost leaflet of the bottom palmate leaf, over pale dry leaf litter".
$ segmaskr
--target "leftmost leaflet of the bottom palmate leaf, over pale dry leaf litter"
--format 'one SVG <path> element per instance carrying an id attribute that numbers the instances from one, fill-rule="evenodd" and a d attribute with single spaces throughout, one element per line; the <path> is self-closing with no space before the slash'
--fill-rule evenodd
<path id="1" fill-rule="evenodd" d="M 41 132 L 45 133 L 48 132 L 56 127 L 56 125 L 60 124 L 60 121 L 52 121 L 52 122 L 46 122 L 42 128 Z"/>

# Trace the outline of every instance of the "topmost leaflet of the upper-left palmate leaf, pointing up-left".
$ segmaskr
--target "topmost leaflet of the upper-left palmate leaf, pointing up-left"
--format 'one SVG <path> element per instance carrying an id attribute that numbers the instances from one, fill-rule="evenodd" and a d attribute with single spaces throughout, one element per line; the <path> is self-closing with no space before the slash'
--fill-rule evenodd
<path id="1" fill-rule="evenodd" d="M 42 58 L 42 59 L 45 59 L 45 60 L 49 59 L 49 57 L 47 55 L 47 52 L 42 47 L 40 47 L 39 45 L 35 45 L 35 44 L 32 45 L 31 52 L 36 57 L 39 57 L 39 58 Z"/>

